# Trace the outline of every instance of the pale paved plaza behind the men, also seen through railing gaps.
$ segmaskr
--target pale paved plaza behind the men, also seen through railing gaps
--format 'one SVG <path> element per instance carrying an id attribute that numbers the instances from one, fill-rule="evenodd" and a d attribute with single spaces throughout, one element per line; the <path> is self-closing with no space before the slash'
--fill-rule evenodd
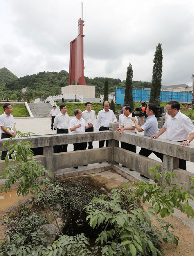
<path id="1" fill-rule="evenodd" d="M 70 116 L 70 121 L 73 118 L 73 116 Z M 15 119 L 16 123 L 16 129 L 21 132 L 34 132 L 35 135 L 44 135 L 44 134 L 56 134 L 55 130 L 51 130 L 51 120 L 50 118 L 18 118 Z M 69 130 L 69 133 L 72 133 Z M 143 132 L 141 132 L 143 134 Z M 161 139 L 166 139 L 166 134 L 162 134 L 160 136 Z M 191 142 L 191 144 L 194 145 L 194 140 Z M 99 143 L 98 141 L 93 142 L 93 147 L 98 148 Z M 186 147 L 185 147 L 186 149 Z M 73 144 L 68 145 L 68 151 L 73 151 Z M 140 147 L 137 147 L 137 153 L 140 151 Z M 153 153 L 149 156 L 152 159 L 155 159 L 157 161 L 161 160 L 155 156 Z M 187 161 L 187 171 L 194 173 L 194 163 Z"/>

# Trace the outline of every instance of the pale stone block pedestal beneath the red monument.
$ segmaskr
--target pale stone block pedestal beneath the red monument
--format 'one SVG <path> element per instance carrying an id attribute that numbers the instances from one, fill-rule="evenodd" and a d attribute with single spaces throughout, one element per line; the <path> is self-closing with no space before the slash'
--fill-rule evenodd
<path id="1" fill-rule="evenodd" d="M 71 84 L 68 86 L 61 87 L 61 93 L 79 95 L 82 94 L 83 98 L 95 98 L 96 97 L 96 86 L 93 85 L 80 85 Z"/>

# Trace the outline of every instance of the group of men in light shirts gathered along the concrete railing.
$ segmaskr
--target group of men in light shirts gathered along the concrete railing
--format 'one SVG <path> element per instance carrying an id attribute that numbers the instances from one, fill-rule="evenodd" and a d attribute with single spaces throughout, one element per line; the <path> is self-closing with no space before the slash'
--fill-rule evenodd
<path id="1" fill-rule="evenodd" d="M 81 111 L 77 108 L 74 110 L 75 117 L 70 122 L 70 131 L 73 133 L 79 132 L 93 132 L 93 124 L 95 122 L 95 112 L 91 109 L 91 103 L 85 103 L 86 110 Z M 11 115 L 12 107 L 10 103 L 5 103 L 4 114 L 0 116 L 1 138 L 10 138 L 15 136 L 16 127 L 14 125 L 14 119 Z M 69 133 L 69 115 L 67 114 L 66 105 L 60 105 L 60 113 L 57 114 L 56 106 L 50 112 L 51 129 L 56 130 L 56 133 Z M 167 140 L 178 141 L 183 146 L 189 146 L 190 142 L 194 139 L 194 125 L 190 118 L 180 112 L 180 104 L 177 101 L 169 101 L 166 106 L 168 115 L 166 116 L 166 122 L 164 126 L 158 129 L 158 121 L 155 117 L 157 106 L 155 104 L 149 104 L 146 108 L 146 122 L 144 123 L 143 116 L 140 117 L 140 125 L 138 125 L 137 117 L 132 117 L 131 108 L 128 104 L 123 105 L 123 114 L 119 116 L 119 128 L 116 132 L 137 133 L 144 132 L 145 136 L 157 139 L 162 133 L 167 132 Z M 96 131 L 109 130 L 109 123 L 117 122 L 114 112 L 110 109 L 110 103 L 108 101 L 103 102 L 103 109 L 99 111 L 95 122 Z M 99 141 L 99 148 L 104 147 L 105 140 Z M 73 144 L 73 150 L 86 149 L 87 142 L 79 142 Z M 108 147 L 108 140 L 106 140 L 106 147 Z M 121 147 L 136 153 L 136 146 L 129 143 L 121 142 Z M 88 149 L 93 148 L 93 143 L 88 142 Z M 67 144 L 54 147 L 54 153 L 67 152 Z M 150 149 L 141 148 L 139 155 L 149 156 L 154 153 L 163 162 L 163 154 L 155 152 Z M 1 160 L 5 159 L 7 151 L 2 151 Z M 74 168 L 78 168 L 75 166 Z M 186 160 L 179 159 L 179 168 L 186 170 Z M 130 171 L 133 171 L 130 169 Z M 141 176 L 144 179 L 149 180 L 146 176 Z"/>

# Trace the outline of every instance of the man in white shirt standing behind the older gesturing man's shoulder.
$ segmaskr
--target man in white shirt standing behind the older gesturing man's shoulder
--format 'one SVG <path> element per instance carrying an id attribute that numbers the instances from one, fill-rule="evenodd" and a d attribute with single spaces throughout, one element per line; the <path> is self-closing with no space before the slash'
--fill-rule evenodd
<path id="1" fill-rule="evenodd" d="M 82 112 L 82 118 L 84 118 L 86 124 L 92 123 L 92 126 L 86 129 L 85 132 L 93 132 L 93 124 L 96 119 L 95 112 L 91 109 L 91 103 L 86 102 L 85 103 L 86 110 Z M 87 142 L 85 144 L 85 147 L 87 148 Z M 92 141 L 88 142 L 88 149 L 93 148 Z"/>

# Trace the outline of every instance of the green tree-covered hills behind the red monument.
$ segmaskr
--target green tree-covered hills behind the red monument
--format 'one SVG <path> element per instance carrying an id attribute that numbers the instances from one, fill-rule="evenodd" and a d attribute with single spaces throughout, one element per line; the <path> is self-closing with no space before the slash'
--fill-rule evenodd
<path id="1" fill-rule="evenodd" d="M 65 70 L 60 72 L 39 72 L 31 76 L 26 75 L 17 77 L 12 74 L 7 68 L 1 68 L 3 76 L 0 76 L 0 97 L 11 98 L 15 93 L 19 100 L 34 99 L 40 97 L 43 93 L 45 96 L 61 94 L 61 87 L 67 86 L 69 81 L 69 73 Z M 1 74 L 1 73 L 0 73 Z M 106 77 L 85 77 L 87 85 L 96 86 L 96 97 L 104 94 L 104 82 Z M 72 83 L 73 84 L 73 83 Z M 121 81 L 116 78 L 108 78 L 109 90 L 108 92 L 115 91 L 115 87 L 125 88 L 125 80 Z M 27 87 L 28 91 L 22 94 L 22 88 Z M 133 88 L 146 88 L 151 87 L 150 82 L 133 81 Z"/>

